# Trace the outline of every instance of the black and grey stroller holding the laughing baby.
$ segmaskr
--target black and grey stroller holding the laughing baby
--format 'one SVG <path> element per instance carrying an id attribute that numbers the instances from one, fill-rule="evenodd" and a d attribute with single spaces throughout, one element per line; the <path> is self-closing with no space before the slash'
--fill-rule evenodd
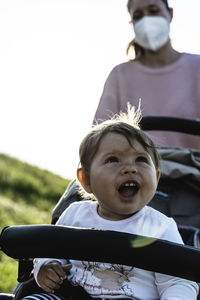
<path id="1" fill-rule="evenodd" d="M 200 120 L 145 116 L 140 125 L 143 130 L 167 130 L 200 135 Z M 76 181 L 73 181 L 53 211 L 52 225 L 11 226 L 2 230 L 0 250 L 12 258 L 19 259 L 19 284 L 12 294 L 0 294 L 0 300 L 12 300 L 24 282 L 32 279 L 30 271 L 34 257 L 63 258 L 66 251 L 72 259 L 112 261 L 200 282 L 200 150 L 161 147 L 159 152 L 162 176 L 149 205 L 175 219 L 185 246 L 157 240 L 146 247 L 130 250 L 127 240 L 137 240 L 138 236 L 53 225 L 69 204 L 82 200 L 77 193 Z M 67 250 L 62 244 L 63 235 L 70 241 Z M 57 241 L 54 247 L 50 247 L 52 236 Z M 82 243 L 82 239 L 87 242 Z M 102 246 L 105 241 L 106 250 Z M 59 244 L 62 247 L 56 247 Z M 120 255 L 113 250 L 116 247 L 121 248 L 119 253 L 126 253 L 126 261 L 121 261 Z M 92 253 L 95 253 L 95 257 Z M 113 253 L 116 254 L 113 256 Z M 137 257 L 134 263 L 131 259 L 133 255 L 134 258 Z M 170 257 L 171 264 L 168 263 L 167 257 Z"/>

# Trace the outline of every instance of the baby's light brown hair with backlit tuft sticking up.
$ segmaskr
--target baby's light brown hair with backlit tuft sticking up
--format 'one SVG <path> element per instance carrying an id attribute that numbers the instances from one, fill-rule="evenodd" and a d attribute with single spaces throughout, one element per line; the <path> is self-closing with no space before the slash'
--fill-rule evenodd
<path id="1" fill-rule="evenodd" d="M 108 133 L 118 133 L 126 137 L 133 147 L 133 142 L 138 141 L 150 154 L 155 168 L 160 168 L 160 158 L 156 146 L 151 138 L 139 128 L 141 114 L 139 109 L 135 112 L 134 107 L 128 105 L 127 114 L 115 115 L 111 120 L 95 125 L 82 140 L 79 148 L 80 165 L 86 172 L 90 172 L 91 163 L 99 149 L 102 138 Z"/>

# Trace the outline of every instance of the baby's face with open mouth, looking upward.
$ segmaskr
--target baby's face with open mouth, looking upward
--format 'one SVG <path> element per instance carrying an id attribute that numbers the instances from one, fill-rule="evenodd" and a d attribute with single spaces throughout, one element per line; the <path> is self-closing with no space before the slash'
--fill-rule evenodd
<path id="1" fill-rule="evenodd" d="M 159 179 L 152 158 L 136 140 L 131 147 L 118 133 L 106 134 L 90 168 L 90 189 L 105 219 L 125 219 L 155 194 Z"/>

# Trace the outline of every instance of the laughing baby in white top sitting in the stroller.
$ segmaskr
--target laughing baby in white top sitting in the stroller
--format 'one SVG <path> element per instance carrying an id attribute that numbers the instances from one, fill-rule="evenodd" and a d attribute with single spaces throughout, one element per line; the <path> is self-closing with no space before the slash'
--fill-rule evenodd
<path id="1" fill-rule="evenodd" d="M 71 204 L 57 224 L 182 244 L 175 221 L 147 206 L 157 188 L 160 164 L 154 143 L 138 127 L 138 116 L 129 106 L 127 114 L 94 126 L 85 136 L 79 149 L 77 178 L 94 200 Z M 39 259 L 34 276 L 48 295 L 55 291 L 58 295 L 65 278 L 95 299 L 195 300 L 198 294 L 198 285 L 189 280 L 100 262 Z"/>

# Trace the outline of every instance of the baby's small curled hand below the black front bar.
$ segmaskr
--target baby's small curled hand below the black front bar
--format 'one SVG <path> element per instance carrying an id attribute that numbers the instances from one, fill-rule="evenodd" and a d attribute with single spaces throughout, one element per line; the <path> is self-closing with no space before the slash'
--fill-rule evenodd
<path id="1" fill-rule="evenodd" d="M 53 293 L 59 289 L 63 280 L 67 277 L 66 272 L 71 269 L 72 265 L 62 265 L 58 261 L 51 261 L 44 264 L 38 273 L 37 281 L 41 288 L 48 293 Z"/>

